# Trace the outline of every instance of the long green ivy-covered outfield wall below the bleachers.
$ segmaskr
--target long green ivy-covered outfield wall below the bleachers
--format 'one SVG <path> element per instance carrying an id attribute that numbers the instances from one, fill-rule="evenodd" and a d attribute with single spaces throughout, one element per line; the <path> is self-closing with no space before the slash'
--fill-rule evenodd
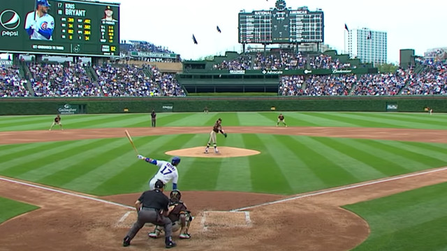
<path id="1" fill-rule="evenodd" d="M 0 115 L 156 112 L 447 112 L 447 96 L 1 98 Z"/>

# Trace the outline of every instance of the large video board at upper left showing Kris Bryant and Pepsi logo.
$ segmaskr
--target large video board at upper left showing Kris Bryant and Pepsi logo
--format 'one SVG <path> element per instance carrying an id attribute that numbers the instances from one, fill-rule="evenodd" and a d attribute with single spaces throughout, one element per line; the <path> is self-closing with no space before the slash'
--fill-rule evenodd
<path id="1" fill-rule="evenodd" d="M 119 3 L 1 0 L 0 52 L 119 57 Z"/>

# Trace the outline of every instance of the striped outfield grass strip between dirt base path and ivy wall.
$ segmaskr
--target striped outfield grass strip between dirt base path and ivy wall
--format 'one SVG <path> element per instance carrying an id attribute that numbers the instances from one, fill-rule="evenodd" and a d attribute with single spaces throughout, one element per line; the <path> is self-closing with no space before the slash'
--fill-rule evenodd
<path id="1" fill-rule="evenodd" d="M 159 113 L 162 126 L 212 126 L 221 118 L 225 126 L 275 126 L 278 112 Z M 447 114 L 374 112 L 283 112 L 288 126 L 337 126 L 370 128 L 420 128 L 447 130 Z M 150 127 L 149 114 L 62 115 L 65 129 Z M 48 130 L 54 115 L 1 116 L 0 131 Z M 54 128 L 57 130 L 58 128 Z"/>

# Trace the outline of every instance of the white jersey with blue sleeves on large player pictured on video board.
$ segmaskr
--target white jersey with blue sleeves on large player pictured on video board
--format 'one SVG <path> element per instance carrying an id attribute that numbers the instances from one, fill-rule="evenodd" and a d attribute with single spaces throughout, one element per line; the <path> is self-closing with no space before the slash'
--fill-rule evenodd
<path id="1" fill-rule="evenodd" d="M 36 20 L 34 20 L 34 17 L 36 17 Z M 31 11 L 27 14 L 25 30 L 27 30 L 31 39 L 52 40 L 54 18 L 49 14 L 39 17 L 37 11 Z"/>

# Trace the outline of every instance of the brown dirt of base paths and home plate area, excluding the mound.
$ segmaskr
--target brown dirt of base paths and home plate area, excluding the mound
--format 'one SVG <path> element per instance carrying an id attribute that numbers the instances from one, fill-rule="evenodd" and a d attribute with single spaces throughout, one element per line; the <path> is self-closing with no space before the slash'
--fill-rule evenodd
<path id="1" fill-rule="evenodd" d="M 124 129 L 132 136 L 184 133 L 183 128 L 0 132 L 0 144 L 124 137 Z M 207 133 L 209 128 L 191 130 Z M 226 127 L 226 132 L 447 143 L 447 133 L 442 130 Z M 446 181 L 447 171 L 441 170 L 295 197 L 182 191 L 182 199 L 196 218 L 191 224 L 191 239 L 179 240 L 175 233 L 178 244 L 175 249 L 350 250 L 367 238 L 369 227 L 367 222 L 340 206 Z M 0 177 L 0 197 L 41 208 L 0 225 L 0 250 L 27 250 L 29 247 L 45 251 L 165 250 L 162 239 L 147 238 L 147 232 L 152 229 L 149 226 L 135 236 L 130 247 L 122 247 L 122 238 L 135 220 L 131 205 L 139 193 L 98 198 L 20 182 Z M 283 201 L 272 203 L 281 199 Z M 256 206 L 259 204 L 264 205 Z M 242 209 L 231 211 L 237 208 Z"/>

